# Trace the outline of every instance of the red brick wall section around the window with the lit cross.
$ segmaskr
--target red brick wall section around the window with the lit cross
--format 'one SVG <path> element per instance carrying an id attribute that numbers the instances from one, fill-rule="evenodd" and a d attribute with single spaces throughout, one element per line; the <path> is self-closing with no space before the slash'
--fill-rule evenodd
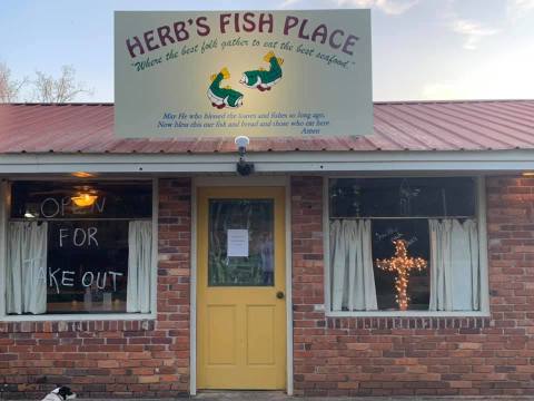
<path id="1" fill-rule="evenodd" d="M 487 179 L 491 319 L 326 319 L 322 179 L 291 206 L 297 394 L 534 394 L 533 178 Z"/>

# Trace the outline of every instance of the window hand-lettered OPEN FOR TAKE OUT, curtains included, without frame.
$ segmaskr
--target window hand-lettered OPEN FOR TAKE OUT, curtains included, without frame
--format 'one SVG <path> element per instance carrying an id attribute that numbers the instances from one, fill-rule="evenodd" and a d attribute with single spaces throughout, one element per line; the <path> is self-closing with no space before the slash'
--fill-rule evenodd
<path id="1" fill-rule="evenodd" d="M 16 182 L 7 314 L 148 313 L 150 182 Z"/>

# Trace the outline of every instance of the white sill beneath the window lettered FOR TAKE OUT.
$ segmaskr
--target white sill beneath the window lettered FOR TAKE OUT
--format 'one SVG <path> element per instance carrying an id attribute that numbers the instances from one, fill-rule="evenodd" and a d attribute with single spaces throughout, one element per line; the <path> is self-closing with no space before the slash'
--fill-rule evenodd
<path id="1" fill-rule="evenodd" d="M 95 322 L 95 321 L 147 321 L 156 320 L 156 313 L 102 313 L 102 314 L 43 314 L 4 315 L 0 322 Z"/>

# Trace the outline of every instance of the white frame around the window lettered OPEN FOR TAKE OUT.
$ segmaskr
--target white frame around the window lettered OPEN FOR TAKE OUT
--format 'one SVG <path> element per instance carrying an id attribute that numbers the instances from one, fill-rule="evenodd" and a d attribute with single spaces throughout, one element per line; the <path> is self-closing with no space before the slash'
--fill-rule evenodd
<path id="1" fill-rule="evenodd" d="M 6 267 L 7 267 L 7 228 L 10 221 L 11 183 L 14 182 L 61 182 L 79 183 L 79 178 L 70 177 L 24 177 L 20 179 L 6 179 L 0 183 L 0 322 L 61 322 L 61 321 L 141 321 L 156 320 L 157 316 L 157 276 L 158 276 L 158 215 L 159 215 L 159 190 L 158 178 L 140 178 L 132 176 L 101 178 L 99 182 L 128 182 L 142 180 L 151 183 L 152 187 L 152 255 L 150 275 L 150 313 L 61 313 L 40 315 L 9 315 L 6 311 Z M 87 179 L 88 182 L 91 179 Z"/>

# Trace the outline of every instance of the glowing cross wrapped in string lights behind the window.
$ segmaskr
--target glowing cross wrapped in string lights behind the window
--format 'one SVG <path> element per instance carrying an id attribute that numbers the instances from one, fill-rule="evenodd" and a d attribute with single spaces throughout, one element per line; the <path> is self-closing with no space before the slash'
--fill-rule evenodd
<path id="1" fill-rule="evenodd" d="M 383 271 L 397 274 L 395 277 L 396 300 L 398 309 L 406 311 L 409 302 L 408 295 L 406 295 L 409 271 L 416 268 L 421 272 L 426 268 L 427 263 L 422 257 L 408 257 L 406 241 L 394 239 L 393 244 L 395 245 L 395 256 L 388 260 L 376 260 L 376 266 Z"/>

